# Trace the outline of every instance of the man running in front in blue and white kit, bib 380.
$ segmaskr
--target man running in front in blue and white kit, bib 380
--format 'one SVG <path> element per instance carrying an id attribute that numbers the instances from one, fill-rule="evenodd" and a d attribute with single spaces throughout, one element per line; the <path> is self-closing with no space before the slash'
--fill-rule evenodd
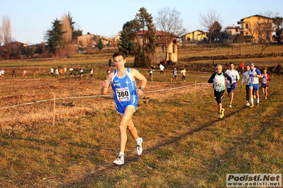
<path id="1" fill-rule="evenodd" d="M 125 67 L 126 56 L 122 52 L 113 54 L 113 60 L 116 70 L 109 74 L 107 80 L 103 81 L 101 94 L 105 95 L 107 93 L 111 83 L 116 110 L 121 117 L 119 124 L 120 153 L 113 163 L 116 165 L 123 165 L 124 151 L 127 142 L 126 129 L 130 131 L 137 143 L 138 155 L 143 152 L 143 139 L 138 137 L 138 131 L 133 125 L 132 117 L 135 110 L 138 109 L 138 95 L 143 94 L 143 88 L 145 88 L 147 79 L 143 74 L 140 74 L 138 70 Z M 135 79 L 141 81 L 138 89 L 136 89 Z"/>

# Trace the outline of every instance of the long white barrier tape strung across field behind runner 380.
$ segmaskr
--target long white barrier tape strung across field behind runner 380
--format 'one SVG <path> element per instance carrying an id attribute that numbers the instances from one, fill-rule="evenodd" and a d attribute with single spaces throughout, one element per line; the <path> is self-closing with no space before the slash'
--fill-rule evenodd
<path id="1" fill-rule="evenodd" d="M 150 90 L 150 91 L 145 91 L 144 93 L 153 93 L 153 92 L 160 92 L 160 91 L 165 91 L 165 90 L 176 90 L 176 89 L 179 89 L 179 88 L 186 88 L 186 87 L 189 87 L 189 86 L 195 86 L 195 85 L 206 85 L 206 84 L 209 84 L 209 83 L 196 83 L 196 84 L 192 84 L 192 85 L 187 85 L 187 86 L 180 86 L 180 87 L 177 87 L 177 88 L 169 88 L 169 89 L 164 89 L 164 90 Z M 74 98 L 99 98 L 99 97 L 109 97 L 109 96 L 113 96 L 113 95 L 93 95 L 93 96 L 82 96 L 82 97 L 71 97 L 71 98 L 50 98 L 50 99 L 46 99 L 46 100 L 38 100 L 38 101 L 35 101 L 35 102 L 28 102 L 28 103 L 25 103 L 25 104 L 21 104 L 21 105 L 13 105 L 13 106 L 9 106 L 9 107 L 0 107 L 0 110 L 1 109 L 6 109 L 6 108 L 11 108 L 11 107 L 19 107 L 19 106 L 23 106 L 23 105 L 31 105 L 31 104 L 35 104 L 35 103 L 39 103 L 39 102 L 46 102 L 46 101 L 50 101 L 50 100 L 62 100 L 62 99 L 74 99 Z"/>

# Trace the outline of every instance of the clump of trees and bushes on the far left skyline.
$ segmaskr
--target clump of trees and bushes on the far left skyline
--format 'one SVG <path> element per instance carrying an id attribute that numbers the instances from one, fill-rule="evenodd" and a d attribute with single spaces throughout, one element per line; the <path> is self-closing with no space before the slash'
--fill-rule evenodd
<path id="1" fill-rule="evenodd" d="M 51 29 L 46 31 L 47 42 L 26 46 L 12 40 L 11 20 L 9 16 L 3 16 L 0 27 L 0 59 L 21 59 L 23 55 L 32 58 L 35 53 L 43 58 L 70 57 L 76 52 L 74 44 L 77 44 L 77 37 L 82 35 L 82 30 L 75 29 L 74 24 L 72 15 L 64 13 L 61 20 L 56 18 L 52 22 Z"/>

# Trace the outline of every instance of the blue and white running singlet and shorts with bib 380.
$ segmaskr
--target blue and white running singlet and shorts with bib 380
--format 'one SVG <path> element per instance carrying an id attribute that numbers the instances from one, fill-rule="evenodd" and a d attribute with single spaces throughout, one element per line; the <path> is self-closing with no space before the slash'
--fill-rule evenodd
<path id="1" fill-rule="evenodd" d="M 136 94 L 135 79 L 132 78 L 130 70 L 127 68 L 123 78 L 119 78 L 115 70 L 111 79 L 116 110 L 120 114 L 123 114 L 128 106 L 134 106 L 135 110 L 138 110 L 138 94 Z"/>

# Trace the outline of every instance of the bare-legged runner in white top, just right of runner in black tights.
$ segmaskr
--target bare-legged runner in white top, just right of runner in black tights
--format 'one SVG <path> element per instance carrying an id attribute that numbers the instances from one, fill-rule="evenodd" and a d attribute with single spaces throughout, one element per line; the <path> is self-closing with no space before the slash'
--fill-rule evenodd
<path id="1" fill-rule="evenodd" d="M 230 63 L 230 69 L 226 70 L 225 74 L 230 76 L 232 78 L 232 83 L 230 81 L 227 81 L 227 93 L 228 97 L 230 98 L 230 104 L 229 107 L 232 107 L 232 102 L 234 98 L 235 93 L 235 87 L 236 87 L 236 81 L 240 79 L 238 71 L 234 69 L 235 65 L 233 62 Z"/>

